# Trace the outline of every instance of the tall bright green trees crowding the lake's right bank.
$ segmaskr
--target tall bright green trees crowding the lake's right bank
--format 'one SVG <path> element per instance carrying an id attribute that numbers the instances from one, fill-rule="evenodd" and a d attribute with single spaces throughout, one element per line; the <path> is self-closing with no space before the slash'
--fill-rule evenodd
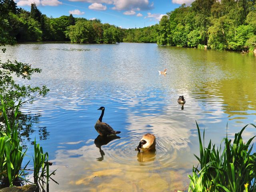
<path id="1" fill-rule="evenodd" d="M 158 44 L 217 50 L 256 47 L 255 0 L 196 0 L 163 16 Z"/>

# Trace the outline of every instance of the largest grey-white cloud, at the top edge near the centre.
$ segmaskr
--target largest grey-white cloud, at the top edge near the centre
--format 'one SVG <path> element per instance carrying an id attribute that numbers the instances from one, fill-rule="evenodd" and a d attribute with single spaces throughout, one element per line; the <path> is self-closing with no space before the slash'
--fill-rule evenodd
<path id="1" fill-rule="evenodd" d="M 114 0 L 116 10 L 150 10 L 153 4 L 149 5 L 148 0 Z"/>

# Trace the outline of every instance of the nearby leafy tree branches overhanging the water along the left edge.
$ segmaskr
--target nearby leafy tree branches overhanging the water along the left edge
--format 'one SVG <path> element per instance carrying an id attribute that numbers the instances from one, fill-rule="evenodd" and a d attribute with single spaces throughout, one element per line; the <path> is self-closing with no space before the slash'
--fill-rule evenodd
<path id="1" fill-rule="evenodd" d="M 0 1 L 0 10 L 3 11 L 0 14 L 0 46 L 6 44 L 13 44 L 14 39 L 10 36 L 8 28 L 10 28 L 8 19 L 10 10 L 4 9 L 4 1 Z M 2 48 L 2 52 L 5 52 L 5 48 Z M 41 72 L 38 68 L 31 68 L 29 64 L 21 62 L 1 62 L 0 60 L 0 95 L 3 98 L 4 105 L 7 109 L 14 109 L 15 104 L 22 100 L 24 102 L 33 102 L 36 96 L 45 96 L 48 92 L 46 86 L 31 87 L 17 84 L 14 81 L 14 77 L 22 77 L 24 79 L 30 79 L 34 72 Z M 1 109 L 0 109 L 1 110 Z"/>

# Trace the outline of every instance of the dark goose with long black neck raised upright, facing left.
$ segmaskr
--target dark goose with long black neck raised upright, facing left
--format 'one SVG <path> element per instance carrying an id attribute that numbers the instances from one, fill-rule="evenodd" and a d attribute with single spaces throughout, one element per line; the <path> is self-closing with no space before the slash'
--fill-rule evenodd
<path id="1" fill-rule="evenodd" d="M 120 133 L 120 131 L 115 131 L 113 128 L 107 124 L 102 122 L 102 118 L 104 115 L 104 107 L 98 108 L 98 110 L 102 110 L 100 118 L 97 120 L 96 124 L 94 125 L 94 128 L 101 136 L 111 136 Z"/>

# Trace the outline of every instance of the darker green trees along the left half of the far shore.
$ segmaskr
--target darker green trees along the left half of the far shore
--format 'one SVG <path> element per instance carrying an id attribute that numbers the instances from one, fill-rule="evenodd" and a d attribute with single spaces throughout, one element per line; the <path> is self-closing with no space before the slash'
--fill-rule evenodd
<path id="1" fill-rule="evenodd" d="M 14 0 L 0 0 L 1 34 L 17 42 L 28 41 L 71 41 L 78 43 L 116 43 L 123 39 L 123 31 L 114 25 L 102 24 L 100 20 L 87 20 L 60 16 L 48 18 L 31 4 L 30 12 L 18 9 Z M 1 16 L 2 17 L 2 16 Z M 1 36 L 4 38 L 4 36 Z M 10 44 L 10 43 L 9 43 Z"/>

